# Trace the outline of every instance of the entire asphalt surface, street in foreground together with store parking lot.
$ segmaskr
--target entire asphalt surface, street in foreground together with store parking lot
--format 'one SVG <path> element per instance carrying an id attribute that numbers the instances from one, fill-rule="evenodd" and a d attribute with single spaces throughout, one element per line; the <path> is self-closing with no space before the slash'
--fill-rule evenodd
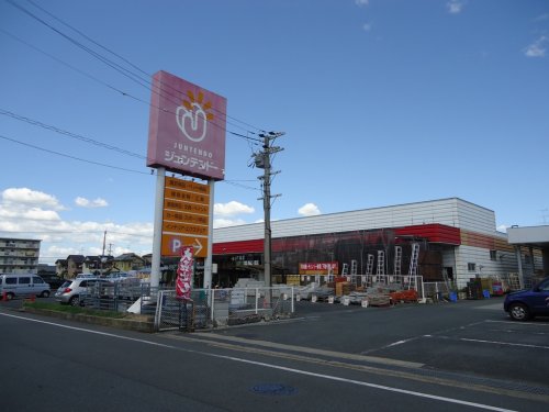
<path id="1" fill-rule="evenodd" d="M 541 411 L 549 322 L 502 300 L 359 308 L 139 334 L 0 305 L 0 403 L 18 411 Z"/>

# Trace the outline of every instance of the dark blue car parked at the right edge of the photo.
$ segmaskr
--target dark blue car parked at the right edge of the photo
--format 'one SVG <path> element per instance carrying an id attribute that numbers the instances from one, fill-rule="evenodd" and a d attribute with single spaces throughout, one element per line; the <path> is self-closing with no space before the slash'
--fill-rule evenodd
<path id="1" fill-rule="evenodd" d="M 503 309 L 515 321 L 549 316 L 549 277 L 531 289 L 508 293 L 503 302 Z"/>

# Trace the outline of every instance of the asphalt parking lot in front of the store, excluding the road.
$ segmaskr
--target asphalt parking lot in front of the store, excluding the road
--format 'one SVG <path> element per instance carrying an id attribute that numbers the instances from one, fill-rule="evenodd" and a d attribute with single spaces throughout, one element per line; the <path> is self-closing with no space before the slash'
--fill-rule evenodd
<path id="1" fill-rule="evenodd" d="M 549 396 L 549 318 L 515 322 L 503 298 L 386 308 L 296 303 L 296 318 L 201 333 L 212 341 L 271 345 L 344 359 L 418 364 L 418 379 Z"/>

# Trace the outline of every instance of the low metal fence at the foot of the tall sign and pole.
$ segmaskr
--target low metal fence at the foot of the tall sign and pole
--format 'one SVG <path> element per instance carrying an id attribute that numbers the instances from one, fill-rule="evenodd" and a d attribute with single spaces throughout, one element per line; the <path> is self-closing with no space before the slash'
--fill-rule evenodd
<path id="1" fill-rule="evenodd" d="M 176 296 L 175 290 L 159 290 L 155 329 L 192 332 L 220 325 L 237 325 L 288 318 L 294 313 L 292 287 L 243 289 L 195 289 L 191 299 Z"/>

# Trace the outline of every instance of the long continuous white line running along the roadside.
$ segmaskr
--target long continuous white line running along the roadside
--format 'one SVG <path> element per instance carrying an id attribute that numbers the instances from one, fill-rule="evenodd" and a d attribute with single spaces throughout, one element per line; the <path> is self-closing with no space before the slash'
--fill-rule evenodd
<path id="1" fill-rule="evenodd" d="M 261 366 L 261 367 L 270 368 L 270 369 L 284 370 L 284 371 L 298 374 L 298 375 L 305 375 L 305 376 L 311 376 L 311 377 L 321 378 L 321 379 L 334 380 L 334 381 L 344 382 L 344 383 L 351 383 L 351 385 L 357 385 L 357 386 L 361 386 L 361 387 L 384 390 L 384 391 L 389 391 L 389 392 L 396 392 L 396 393 L 402 393 L 402 394 L 408 394 L 412 397 L 432 399 L 432 400 L 436 400 L 436 401 L 440 401 L 440 402 L 462 404 L 466 407 L 472 407 L 472 408 L 483 409 L 483 410 L 488 410 L 488 411 L 516 412 L 516 411 L 509 410 L 509 409 L 497 408 L 497 407 L 492 407 L 492 405 L 477 403 L 477 402 L 468 402 L 468 401 L 462 401 L 460 399 L 439 397 L 436 394 L 429 394 L 429 393 L 424 393 L 424 392 L 416 392 L 416 391 L 411 391 L 411 390 L 405 390 L 405 389 L 399 389 L 399 388 L 388 387 L 384 385 L 365 382 L 361 380 L 340 378 L 340 377 L 332 376 L 332 375 L 316 374 L 316 372 L 311 372 L 307 370 L 288 368 L 284 366 L 272 365 L 272 364 L 267 364 L 267 363 L 256 361 L 256 360 L 249 360 L 249 359 L 238 358 L 238 357 L 234 357 L 234 356 L 209 354 L 209 353 L 193 350 L 193 349 L 186 349 L 186 348 L 181 348 L 181 347 L 177 347 L 177 346 L 172 346 L 172 345 L 159 344 L 159 343 L 147 341 L 147 339 L 139 339 L 139 338 L 135 338 L 135 337 L 116 335 L 114 333 L 99 332 L 99 331 L 92 331 L 92 330 L 88 330 L 88 329 L 83 329 L 83 327 L 68 326 L 68 325 L 63 325 L 63 324 L 55 323 L 55 322 L 47 322 L 47 321 L 42 321 L 42 320 L 25 318 L 25 316 L 19 316 L 19 315 L 13 315 L 13 314 L 8 314 L 8 313 L 0 313 L 0 315 L 8 316 L 8 318 L 14 318 L 14 319 L 19 319 L 19 320 L 23 320 L 23 321 L 27 321 L 27 322 L 35 322 L 35 323 L 42 323 L 42 324 L 46 324 L 46 325 L 51 325 L 51 326 L 68 329 L 68 330 L 78 331 L 78 332 L 85 332 L 85 333 L 91 333 L 91 334 L 101 335 L 101 336 L 109 336 L 109 337 L 114 337 L 114 338 L 120 338 L 120 339 L 125 339 L 125 341 L 138 342 L 138 343 L 143 343 L 146 345 L 160 346 L 160 347 L 165 347 L 165 348 L 182 350 L 182 352 L 187 352 L 187 353 L 193 353 L 197 355 L 209 356 L 209 357 L 219 358 L 219 359 L 227 359 L 227 360 L 238 361 L 242 364 L 249 364 L 249 365 Z"/>

